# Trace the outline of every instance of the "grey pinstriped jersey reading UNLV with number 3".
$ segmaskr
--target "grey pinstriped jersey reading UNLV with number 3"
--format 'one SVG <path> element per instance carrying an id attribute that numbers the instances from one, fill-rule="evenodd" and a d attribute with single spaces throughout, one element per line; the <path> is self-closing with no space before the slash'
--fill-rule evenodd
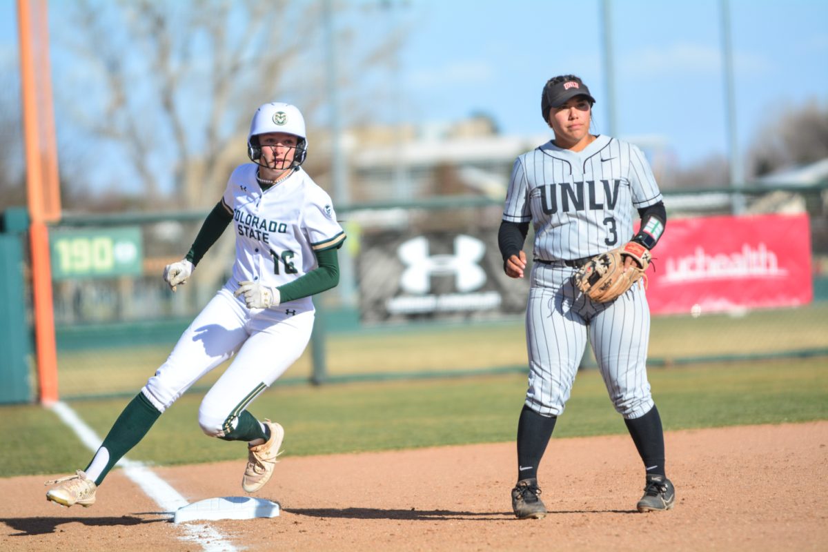
<path id="1" fill-rule="evenodd" d="M 532 222 L 534 257 L 592 257 L 633 238 L 633 207 L 662 201 L 642 151 L 599 136 L 583 151 L 552 142 L 517 157 L 503 220 Z"/>

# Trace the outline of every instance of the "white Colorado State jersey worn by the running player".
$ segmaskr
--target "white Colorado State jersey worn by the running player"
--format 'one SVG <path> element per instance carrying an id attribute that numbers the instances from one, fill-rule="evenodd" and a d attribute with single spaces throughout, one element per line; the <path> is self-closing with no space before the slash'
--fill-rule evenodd
<path id="1" fill-rule="evenodd" d="M 314 252 L 345 239 L 330 196 L 297 168 L 277 185 L 262 191 L 258 166 L 238 166 L 227 182 L 222 204 L 233 214 L 236 262 L 230 290 L 239 281 L 278 287 L 316 268 Z M 286 303 L 292 310 L 313 310 L 310 297 Z"/>

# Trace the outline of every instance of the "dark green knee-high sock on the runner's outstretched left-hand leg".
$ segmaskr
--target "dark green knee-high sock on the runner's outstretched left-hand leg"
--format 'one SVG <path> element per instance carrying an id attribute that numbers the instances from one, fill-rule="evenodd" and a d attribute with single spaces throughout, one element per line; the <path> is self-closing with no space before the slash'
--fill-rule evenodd
<path id="1" fill-rule="evenodd" d="M 143 393 L 129 402 L 84 470 L 89 478 L 94 478 L 95 485 L 100 485 L 118 460 L 143 439 L 160 415 Z"/>

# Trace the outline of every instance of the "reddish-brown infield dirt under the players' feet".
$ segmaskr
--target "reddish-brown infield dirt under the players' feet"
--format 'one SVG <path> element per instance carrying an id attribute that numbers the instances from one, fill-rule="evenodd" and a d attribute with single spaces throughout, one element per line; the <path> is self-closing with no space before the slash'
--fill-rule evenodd
<path id="1" fill-rule="evenodd" d="M 503 443 L 286 455 L 257 495 L 281 516 L 206 523 L 234 550 L 828 550 L 828 421 L 666 442 L 667 512 L 635 511 L 643 468 L 624 435 L 552 439 L 542 520 L 514 519 L 515 446 Z M 242 496 L 243 468 L 241 458 L 155 471 L 195 502 Z M 90 508 L 46 502 L 47 478 L 0 479 L 0 550 L 203 550 L 120 470 Z"/>

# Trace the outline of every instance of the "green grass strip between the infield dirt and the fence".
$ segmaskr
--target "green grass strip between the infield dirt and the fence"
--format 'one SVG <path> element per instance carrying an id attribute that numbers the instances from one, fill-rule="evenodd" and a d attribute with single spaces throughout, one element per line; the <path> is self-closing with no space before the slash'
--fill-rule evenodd
<path id="1" fill-rule="evenodd" d="M 665 429 L 828 419 L 826 358 L 657 368 L 650 381 Z M 519 375 L 427 381 L 277 386 L 250 409 L 286 427 L 288 455 L 408 449 L 514 439 L 526 391 Z M 181 397 L 129 458 L 157 464 L 244 457 L 243 444 L 208 439 L 196 418 L 201 394 Z M 70 404 L 103 437 L 128 399 Z M 3 476 L 84 468 L 84 449 L 51 411 L 0 408 Z M 580 372 L 556 436 L 624 434 L 595 370 Z"/>

